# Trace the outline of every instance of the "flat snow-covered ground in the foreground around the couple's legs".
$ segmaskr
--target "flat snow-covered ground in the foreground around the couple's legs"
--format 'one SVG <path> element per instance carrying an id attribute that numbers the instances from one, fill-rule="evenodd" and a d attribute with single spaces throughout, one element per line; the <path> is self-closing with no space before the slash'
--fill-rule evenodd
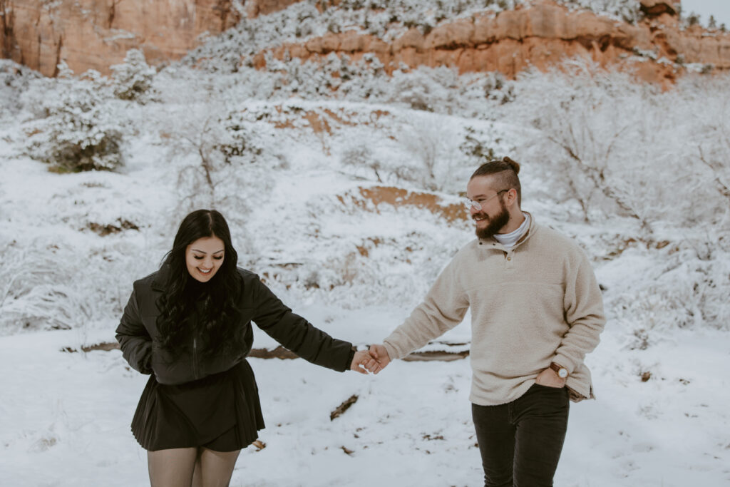
<path id="1" fill-rule="evenodd" d="M 312 317 L 331 309 L 306 307 Z M 380 340 L 401 310 L 339 310 L 332 334 Z M 112 328 L 85 337 L 112 340 Z M 457 327 L 468 328 L 466 323 Z M 256 345 L 267 337 L 257 335 Z M 119 350 L 69 353 L 77 331 L 0 340 L 4 486 L 143 486 L 146 456 L 129 430 L 147 377 Z M 725 334 L 682 331 L 627 353 L 611 326 L 588 362 L 596 401 L 572 404 L 556 486 L 726 486 L 730 481 Z M 478 486 L 469 361 L 396 361 L 379 375 L 300 360 L 250 358 L 266 448 L 239 457 L 231 486 Z M 651 372 L 646 382 L 641 372 Z M 349 410 L 330 420 L 356 394 Z M 345 449 L 347 449 L 346 453 Z"/>

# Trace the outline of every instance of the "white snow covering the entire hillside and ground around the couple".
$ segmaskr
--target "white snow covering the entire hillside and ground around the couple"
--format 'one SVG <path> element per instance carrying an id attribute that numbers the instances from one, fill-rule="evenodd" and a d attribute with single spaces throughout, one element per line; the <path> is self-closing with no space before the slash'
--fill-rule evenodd
<path id="1" fill-rule="evenodd" d="M 629 3 L 572 1 L 604 4 L 610 15 Z M 287 22 L 310 11 L 302 2 L 253 20 L 261 39 L 252 45 L 283 39 L 273 32 L 280 23 L 294 36 Z M 218 42 L 198 54 L 231 48 Z M 604 288 L 609 321 L 586 358 L 597 400 L 572 404 L 556 486 L 730 484 L 729 78 L 688 77 L 659 93 L 588 64 L 504 85 L 449 69 L 391 80 L 361 65 L 331 91 L 327 77 L 347 67 L 339 61 L 324 73 L 293 61 L 268 72 L 176 65 L 139 103 L 110 98 L 112 82 L 85 80 L 85 89 L 99 84 L 95 110 L 123 134 L 123 166 L 58 174 L 28 157 L 27 131 L 43 118 L 45 96 L 70 90 L 73 100 L 75 82 L 37 83 L 4 66 L 2 485 L 146 485 L 129 424 L 147 377 L 119 350 L 82 346 L 114 341 L 132 282 L 158 267 L 193 207 L 226 215 L 239 264 L 295 312 L 361 348 L 382 341 L 473 230 L 435 207 L 379 203 L 365 190 L 458 204 L 479 164 L 464 150 L 469 134 L 485 152 L 520 161 L 523 208 L 575 238 Z M 423 99 L 404 98 L 423 86 L 409 95 Z M 418 137 L 438 143 L 419 150 Z M 348 164 L 353 147 L 369 151 Z M 468 348 L 469 320 L 424 350 Z M 255 329 L 255 348 L 277 345 Z M 482 483 L 468 358 L 395 361 L 377 376 L 302 360 L 250 363 L 266 448 L 241 453 L 231 486 Z"/>

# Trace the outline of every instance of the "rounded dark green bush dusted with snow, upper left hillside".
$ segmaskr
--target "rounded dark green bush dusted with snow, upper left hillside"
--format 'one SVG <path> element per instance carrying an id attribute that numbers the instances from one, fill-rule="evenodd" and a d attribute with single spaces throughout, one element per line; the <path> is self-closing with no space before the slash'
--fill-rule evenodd
<path id="1" fill-rule="evenodd" d="M 123 164 L 122 121 L 96 72 L 41 79 L 23 93 L 38 118 L 23 126 L 26 153 L 59 172 L 113 170 Z"/>

